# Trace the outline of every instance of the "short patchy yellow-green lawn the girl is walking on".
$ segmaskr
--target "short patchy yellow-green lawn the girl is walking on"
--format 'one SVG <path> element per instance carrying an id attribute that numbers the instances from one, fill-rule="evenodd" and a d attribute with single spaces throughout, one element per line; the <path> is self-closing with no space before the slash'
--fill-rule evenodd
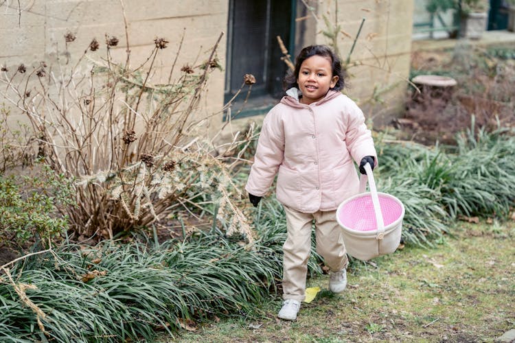
<path id="1" fill-rule="evenodd" d="M 325 290 L 295 322 L 277 320 L 271 297 L 253 318 L 205 323 L 174 342 L 493 342 L 515 328 L 515 224 L 460 222 L 455 232 L 437 249 L 354 263 L 342 296 L 327 276 L 310 279 Z"/>

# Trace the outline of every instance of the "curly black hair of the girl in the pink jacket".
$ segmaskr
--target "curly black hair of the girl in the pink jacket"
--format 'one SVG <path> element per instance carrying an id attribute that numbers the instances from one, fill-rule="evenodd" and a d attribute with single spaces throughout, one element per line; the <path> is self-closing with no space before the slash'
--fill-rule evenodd
<path id="1" fill-rule="evenodd" d="M 299 78 L 299 71 L 302 62 L 310 58 L 311 56 L 319 55 L 325 58 L 329 58 L 331 60 L 332 67 L 332 75 L 338 76 L 338 82 L 332 87 L 333 91 L 341 91 L 343 88 L 347 87 L 345 83 L 345 78 L 347 73 L 344 69 L 341 68 L 341 60 L 330 47 L 327 45 L 310 45 L 301 50 L 297 59 L 295 60 L 295 71 L 288 71 L 286 76 L 284 77 L 284 90 L 287 91 L 292 87 L 299 88 L 299 84 L 297 84 L 297 79 Z"/>

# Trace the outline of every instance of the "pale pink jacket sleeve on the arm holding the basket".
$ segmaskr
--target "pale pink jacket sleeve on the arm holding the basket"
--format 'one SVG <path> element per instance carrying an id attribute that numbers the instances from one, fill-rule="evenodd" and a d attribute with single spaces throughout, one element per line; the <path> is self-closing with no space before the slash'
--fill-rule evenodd
<path id="1" fill-rule="evenodd" d="M 345 143 L 356 163 L 359 164 L 361 159 L 365 156 L 374 156 L 375 165 L 378 164 L 372 134 L 365 124 L 363 112 L 354 102 L 349 110 Z"/>

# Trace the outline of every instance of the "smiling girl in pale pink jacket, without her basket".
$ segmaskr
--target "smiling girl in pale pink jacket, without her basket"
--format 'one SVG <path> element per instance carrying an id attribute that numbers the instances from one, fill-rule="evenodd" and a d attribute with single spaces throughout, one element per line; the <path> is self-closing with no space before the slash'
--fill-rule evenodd
<path id="1" fill-rule="evenodd" d="M 341 62 L 325 45 L 305 47 L 295 72 L 285 78 L 286 96 L 270 110 L 245 189 L 258 206 L 277 174 L 276 196 L 284 205 L 288 238 L 283 246 L 283 306 L 277 315 L 295 320 L 306 292 L 314 220 L 317 252 L 330 270 L 329 289 L 347 285 L 347 255 L 336 209 L 358 193 L 358 174 L 377 154 L 358 106 L 340 90 Z"/>

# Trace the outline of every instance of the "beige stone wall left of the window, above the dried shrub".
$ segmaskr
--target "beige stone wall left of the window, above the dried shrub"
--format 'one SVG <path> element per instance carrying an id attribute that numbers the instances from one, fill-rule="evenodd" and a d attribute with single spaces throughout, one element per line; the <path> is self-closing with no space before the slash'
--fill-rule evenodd
<path id="1" fill-rule="evenodd" d="M 9 74 L 21 63 L 27 66 L 27 73 L 41 61 L 54 70 L 58 64 L 74 65 L 93 38 L 100 49 L 88 51 L 88 59 L 105 61 L 106 36 L 119 40 L 110 49 L 112 60 L 125 63 L 128 50 L 130 67 L 135 69 L 152 53 L 154 39 L 165 38 L 170 43 L 159 51 L 154 64 L 157 73 L 152 75 L 153 84 L 164 84 L 183 36 L 174 77 L 184 64 L 200 64 L 207 58 L 210 47 L 227 30 L 227 0 L 20 0 L 19 5 L 17 1 L 0 4 L 0 65 Z M 67 34 L 75 40 L 66 43 Z M 225 49 L 222 38 L 220 60 Z M 223 88 L 224 73 L 215 71 L 209 80 L 206 111 L 222 106 Z M 12 120 L 22 119 L 16 114 L 12 110 Z M 220 122 L 217 118 L 216 123 Z"/>

